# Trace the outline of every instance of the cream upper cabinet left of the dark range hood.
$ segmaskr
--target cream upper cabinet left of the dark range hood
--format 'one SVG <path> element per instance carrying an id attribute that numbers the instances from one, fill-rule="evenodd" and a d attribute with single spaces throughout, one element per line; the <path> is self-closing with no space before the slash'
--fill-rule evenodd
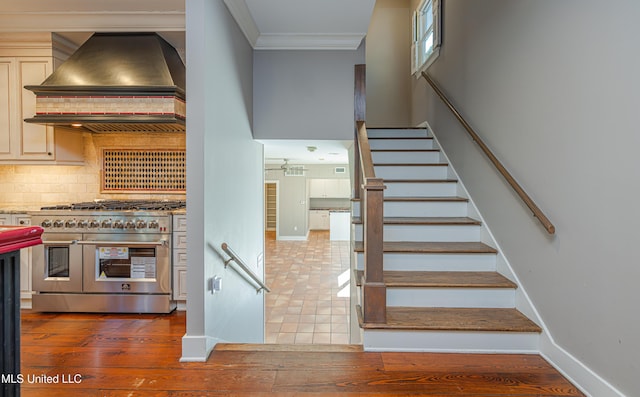
<path id="1" fill-rule="evenodd" d="M 36 103 L 24 86 L 41 84 L 52 71 L 50 34 L 0 36 L 0 164 L 83 162 L 82 132 L 23 121 Z"/>

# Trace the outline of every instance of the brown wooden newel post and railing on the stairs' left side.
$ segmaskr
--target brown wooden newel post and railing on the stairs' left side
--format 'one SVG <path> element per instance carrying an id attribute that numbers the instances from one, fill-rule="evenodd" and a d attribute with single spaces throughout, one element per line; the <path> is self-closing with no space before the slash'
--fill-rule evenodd
<path id="1" fill-rule="evenodd" d="M 384 284 L 383 204 L 384 181 L 376 177 L 365 125 L 365 65 L 355 68 L 355 172 L 354 198 L 360 199 L 364 244 L 362 316 L 365 323 L 387 322 L 387 289 Z"/>

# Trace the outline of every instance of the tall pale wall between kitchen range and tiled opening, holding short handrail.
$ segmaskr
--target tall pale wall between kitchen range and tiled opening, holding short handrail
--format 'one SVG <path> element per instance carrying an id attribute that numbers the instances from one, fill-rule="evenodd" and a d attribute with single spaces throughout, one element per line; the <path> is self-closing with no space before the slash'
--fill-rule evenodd
<path id="1" fill-rule="evenodd" d="M 263 294 L 231 268 L 227 242 L 259 275 L 264 247 L 262 145 L 253 141 L 253 51 L 222 0 L 190 0 L 187 18 L 187 333 L 183 360 L 218 341 L 264 340 Z M 230 265 L 233 266 L 233 265 Z M 222 276 L 212 294 L 208 280 Z"/>

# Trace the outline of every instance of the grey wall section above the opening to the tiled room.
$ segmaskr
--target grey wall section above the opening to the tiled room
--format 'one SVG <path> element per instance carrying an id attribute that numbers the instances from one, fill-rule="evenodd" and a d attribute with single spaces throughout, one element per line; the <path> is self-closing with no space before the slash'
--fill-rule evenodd
<path id="1" fill-rule="evenodd" d="M 256 139 L 353 139 L 356 51 L 255 51 Z"/>

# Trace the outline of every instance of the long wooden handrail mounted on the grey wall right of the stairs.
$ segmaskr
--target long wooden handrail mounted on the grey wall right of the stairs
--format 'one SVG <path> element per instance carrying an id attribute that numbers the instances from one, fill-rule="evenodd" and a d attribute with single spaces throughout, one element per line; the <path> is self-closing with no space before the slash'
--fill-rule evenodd
<path id="1" fill-rule="evenodd" d="M 504 165 L 502 165 L 500 160 L 498 160 L 498 158 L 493 154 L 493 152 L 484 143 L 484 141 L 480 138 L 480 136 L 474 131 L 474 129 L 471 128 L 469 123 L 467 123 L 467 121 L 462 117 L 460 112 L 458 112 L 458 110 L 455 108 L 455 106 L 453 106 L 451 101 L 449 101 L 449 99 L 444 95 L 442 90 L 440 90 L 440 88 L 438 87 L 436 82 L 433 81 L 433 79 L 428 74 L 426 74 L 425 72 L 422 72 L 422 77 L 424 77 L 425 80 L 427 80 L 427 82 L 429 83 L 429 85 L 431 85 L 431 87 L 436 92 L 436 94 L 438 94 L 438 97 L 440 97 L 442 102 L 444 102 L 444 104 L 447 105 L 449 110 L 451 110 L 451 112 L 456 116 L 456 118 L 458 119 L 460 124 L 462 124 L 464 129 L 467 130 L 469 135 L 471 135 L 471 138 L 474 140 L 474 142 L 476 142 L 478 144 L 478 146 L 480 146 L 480 148 L 482 149 L 484 154 L 487 157 L 489 157 L 489 160 L 491 160 L 491 162 L 498 169 L 500 174 L 502 174 L 502 176 L 507 180 L 509 185 L 511 185 L 513 190 L 516 191 L 516 193 L 518 194 L 518 196 L 520 196 L 522 201 L 524 201 L 524 203 L 527 205 L 527 207 L 529 207 L 531 212 L 533 212 L 533 216 L 538 218 L 540 223 L 542 223 L 542 226 L 546 229 L 547 233 L 554 234 L 556 232 L 556 228 L 555 228 L 555 226 L 553 226 L 553 224 L 551 223 L 549 218 L 547 218 L 547 216 L 536 205 L 536 203 L 531 199 L 531 197 L 529 197 L 527 192 L 524 191 L 522 186 L 520 186 L 520 184 L 518 184 L 518 182 L 515 180 L 515 178 L 513 176 L 511 176 L 509 171 L 507 171 L 507 169 L 504 167 Z"/>

